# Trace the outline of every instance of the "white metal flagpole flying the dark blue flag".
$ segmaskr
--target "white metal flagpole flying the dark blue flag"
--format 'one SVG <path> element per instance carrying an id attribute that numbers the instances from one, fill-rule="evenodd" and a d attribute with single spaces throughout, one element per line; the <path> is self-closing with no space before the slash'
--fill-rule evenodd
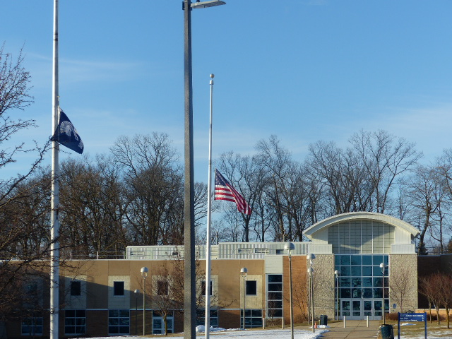
<path id="1" fill-rule="evenodd" d="M 59 119 L 58 93 L 58 0 L 54 0 L 54 52 L 52 75 L 52 135 Z M 50 339 L 58 339 L 59 326 L 59 143 L 52 141 L 52 192 L 50 225 Z"/>

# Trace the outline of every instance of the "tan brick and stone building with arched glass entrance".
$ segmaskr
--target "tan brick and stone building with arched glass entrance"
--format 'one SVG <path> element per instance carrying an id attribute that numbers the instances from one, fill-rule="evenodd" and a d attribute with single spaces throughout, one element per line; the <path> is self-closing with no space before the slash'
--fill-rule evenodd
<path id="1" fill-rule="evenodd" d="M 238 328 L 243 319 L 246 328 L 261 327 L 263 321 L 289 324 L 290 276 L 295 322 L 310 316 L 311 287 L 317 319 L 381 319 L 383 307 L 386 312 L 415 310 L 419 259 L 412 242 L 417 233 L 408 223 L 379 213 L 335 215 L 304 232 L 309 242 L 293 243 L 291 261 L 284 242 L 212 246 L 210 283 L 206 251 L 199 246 L 199 323 L 209 288 L 212 326 Z M 67 261 L 60 272 L 60 336 L 160 334 L 165 323 L 169 333 L 182 332 L 183 257 L 183 246 L 129 246 L 122 259 Z M 245 277 L 242 268 L 247 268 Z M 44 311 L 6 324 L 8 338 L 48 336 L 47 300 Z"/>

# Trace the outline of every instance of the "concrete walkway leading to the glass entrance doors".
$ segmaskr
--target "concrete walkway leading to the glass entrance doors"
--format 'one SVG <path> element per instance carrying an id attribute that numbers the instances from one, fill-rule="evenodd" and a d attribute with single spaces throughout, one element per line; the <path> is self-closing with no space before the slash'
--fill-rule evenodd
<path id="1" fill-rule="evenodd" d="M 380 328 L 380 321 L 369 321 L 369 327 L 367 327 L 367 321 L 365 320 L 347 320 L 346 327 L 342 321 L 328 323 L 329 332 L 323 333 L 321 338 L 331 339 L 367 339 L 377 338 Z"/>

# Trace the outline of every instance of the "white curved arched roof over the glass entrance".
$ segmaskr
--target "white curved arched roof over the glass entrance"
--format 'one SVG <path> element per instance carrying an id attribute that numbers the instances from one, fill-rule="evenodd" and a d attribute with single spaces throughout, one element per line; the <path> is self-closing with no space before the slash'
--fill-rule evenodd
<path id="1" fill-rule="evenodd" d="M 305 230 L 303 234 L 312 240 L 312 234 L 314 234 L 315 232 L 323 228 L 328 228 L 340 222 L 346 222 L 350 220 L 374 220 L 384 222 L 385 224 L 393 225 L 394 227 L 400 227 L 403 230 L 410 232 L 413 237 L 416 237 L 417 234 L 419 234 L 419 230 L 417 230 L 415 227 L 412 227 L 412 225 L 410 225 L 408 222 L 391 217 L 390 215 L 374 212 L 350 212 L 333 215 L 330 218 L 323 219 L 312 225 L 307 230 Z"/>

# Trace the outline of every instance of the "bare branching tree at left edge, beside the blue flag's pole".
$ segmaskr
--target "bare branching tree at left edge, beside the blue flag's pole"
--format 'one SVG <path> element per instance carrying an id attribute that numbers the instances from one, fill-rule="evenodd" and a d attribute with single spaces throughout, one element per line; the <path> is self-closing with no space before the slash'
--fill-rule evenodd
<path id="1" fill-rule="evenodd" d="M 20 117 L 33 102 L 31 76 L 23 61 L 22 50 L 14 59 L 1 45 L 0 169 L 16 162 L 21 153 L 33 154 L 35 160 L 15 177 L 0 179 L 0 321 L 11 318 L 14 309 L 21 309 L 23 283 L 47 265 L 42 258 L 49 253 L 45 191 L 48 182 L 37 173 L 49 141 L 40 147 L 35 141 L 28 146 L 25 141 L 14 139 L 18 132 L 36 126 L 34 120 Z"/>

